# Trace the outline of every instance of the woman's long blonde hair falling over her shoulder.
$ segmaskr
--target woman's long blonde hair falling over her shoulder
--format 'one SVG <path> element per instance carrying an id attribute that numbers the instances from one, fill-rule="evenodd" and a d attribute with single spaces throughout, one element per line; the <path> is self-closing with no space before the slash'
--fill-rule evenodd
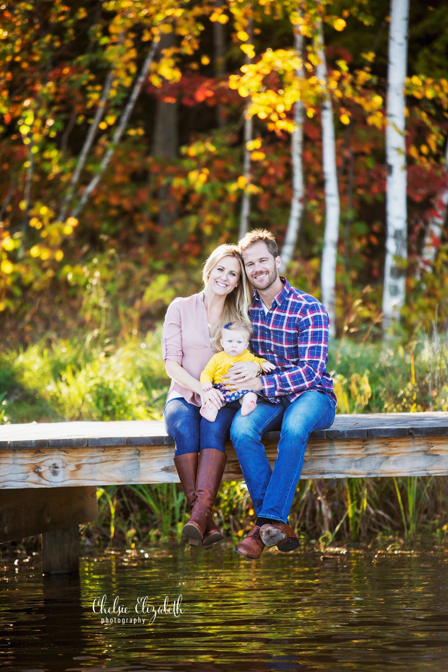
<path id="1" fill-rule="evenodd" d="M 214 349 L 222 349 L 219 344 L 220 334 L 224 325 L 229 322 L 239 322 L 252 332 L 251 321 L 249 319 L 249 308 L 252 304 L 251 289 L 244 271 L 242 257 L 236 245 L 230 243 L 220 245 L 212 252 L 210 257 L 208 257 L 207 261 L 204 263 L 204 269 L 202 271 L 204 286 L 208 283 L 208 279 L 210 278 L 210 274 L 214 267 L 221 261 L 221 259 L 224 259 L 224 257 L 234 257 L 235 259 L 238 259 L 241 274 L 240 280 L 238 280 L 238 286 L 226 296 L 221 319 L 213 330 L 212 347 L 214 347 Z"/>

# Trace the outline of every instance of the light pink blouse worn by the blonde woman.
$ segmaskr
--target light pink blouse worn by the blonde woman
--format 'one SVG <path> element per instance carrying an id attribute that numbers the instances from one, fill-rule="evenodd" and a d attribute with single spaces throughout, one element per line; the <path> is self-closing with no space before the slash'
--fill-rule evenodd
<path id="1" fill-rule="evenodd" d="M 210 346 L 204 292 L 187 298 L 175 298 L 168 306 L 163 325 L 162 354 L 164 364 L 167 360 L 177 362 L 199 380 L 202 370 L 216 354 L 216 350 Z M 201 405 L 199 394 L 187 390 L 174 380 L 171 381 L 169 392 L 172 390 L 179 392 L 189 404 Z"/>

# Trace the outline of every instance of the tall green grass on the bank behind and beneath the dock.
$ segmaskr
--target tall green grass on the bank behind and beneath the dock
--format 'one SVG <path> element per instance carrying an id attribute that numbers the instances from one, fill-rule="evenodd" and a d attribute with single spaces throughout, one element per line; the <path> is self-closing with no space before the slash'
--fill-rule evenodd
<path id="1" fill-rule="evenodd" d="M 123 343 L 98 335 L 40 341 L 0 353 L 0 423 L 160 419 L 168 388 L 161 328 Z M 403 345 L 343 339 L 330 350 L 339 413 L 448 411 L 448 337 L 420 333 Z M 179 485 L 99 489 L 99 521 L 86 535 L 103 544 L 181 542 L 188 515 Z M 324 548 L 332 543 L 444 543 L 448 478 L 301 480 L 290 522 Z M 255 521 L 243 482 L 224 482 L 216 522 L 237 540 Z M 392 541 L 391 541 L 392 540 Z M 397 541 L 398 540 L 398 541 Z"/>

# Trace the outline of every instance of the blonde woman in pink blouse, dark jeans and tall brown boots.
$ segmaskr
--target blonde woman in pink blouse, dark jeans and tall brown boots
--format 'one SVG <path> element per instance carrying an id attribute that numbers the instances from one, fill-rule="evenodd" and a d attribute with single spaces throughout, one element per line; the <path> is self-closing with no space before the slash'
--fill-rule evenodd
<path id="1" fill-rule="evenodd" d="M 204 392 L 199 376 L 216 352 L 213 344 L 224 324 L 250 327 L 251 292 L 236 245 L 212 252 L 202 278 L 204 290 L 175 299 L 165 317 L 162 351 L 171 386 L 163 416 L 175 439 L 174 463 L 191 509 L 183 534 L 190 544 L 202 541 L 210 548 L 222 540 L 211 511 L 226 466 L 226 435 L 240 405 L 235 401 L 221 408 L 222 393 L 215 388 Z M 214 422 L 199 414 L 203 404 L 220 409 Z"/>

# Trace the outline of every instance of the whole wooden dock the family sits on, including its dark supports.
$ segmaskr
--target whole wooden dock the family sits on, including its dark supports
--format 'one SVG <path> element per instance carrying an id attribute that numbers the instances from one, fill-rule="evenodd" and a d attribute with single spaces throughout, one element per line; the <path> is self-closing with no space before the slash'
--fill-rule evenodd
<path id="1" fill-rule="evenodd" d="M 264 437 L 271 462 L 278 439 L 278 432 Z M 224 480 L 241 480 L 231 444 L 226 451 Z M 77 526 L 96 519 L 96 488 L 179 482 L 173 455 L 159 421 L 2 425 L 0 542 L 42 532 L 44 572 L 76 569 Z M 444 474 L 448 413 L 391 413 L 337 415 L 332 427 L 313 432 L 301 478 Z"/>

